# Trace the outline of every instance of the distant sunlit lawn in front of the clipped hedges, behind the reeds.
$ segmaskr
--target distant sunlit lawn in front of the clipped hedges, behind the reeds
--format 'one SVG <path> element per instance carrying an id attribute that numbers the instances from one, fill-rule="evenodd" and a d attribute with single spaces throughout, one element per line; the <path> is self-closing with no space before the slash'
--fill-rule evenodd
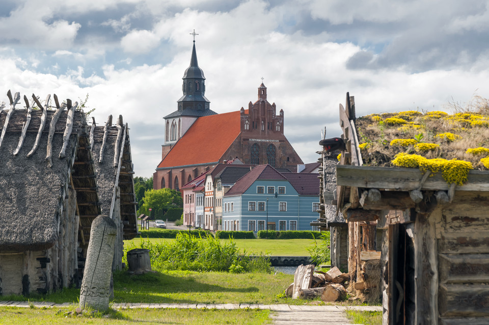
<path id="1" fill-rule="evenodd" d="M 170 238 L 145 238 L 145 241 L 161 242 L 174 240 Z M 221 239 L 228 241 L 228 239 Z M 237 247 L 241 252 L 246 249 L 247 253 L 252 254 L 269 254 L 275 256 L 309 256 L 308 247 L 314 245 L 314 239 L 234 239 Z M 141 238 L 124 240 L 125 247 L 131 243 L 138 246 Z"/>

